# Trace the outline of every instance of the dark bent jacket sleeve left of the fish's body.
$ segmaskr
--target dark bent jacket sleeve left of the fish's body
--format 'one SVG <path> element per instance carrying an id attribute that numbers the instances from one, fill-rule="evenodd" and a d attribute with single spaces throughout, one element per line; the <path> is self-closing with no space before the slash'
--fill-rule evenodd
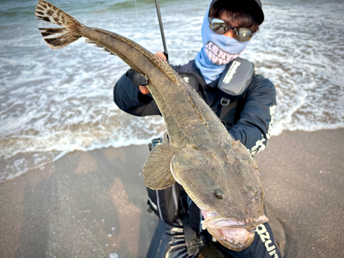
<path id="1" fill-rule="evenodd" d="M 134 116 L 161 115 L 151 94 L 139 92 L 125 74 L 114 87 L 114 101 L 120 109 Z"/>

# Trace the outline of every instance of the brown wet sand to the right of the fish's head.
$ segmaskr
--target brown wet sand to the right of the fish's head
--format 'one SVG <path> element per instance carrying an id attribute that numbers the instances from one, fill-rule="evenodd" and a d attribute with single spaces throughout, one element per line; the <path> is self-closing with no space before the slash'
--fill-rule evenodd
<path id="1" fill-rule="evenodd" d="M 256 161 L 286 257 L 344 257 L 344 129 L 283 132 Z"/>

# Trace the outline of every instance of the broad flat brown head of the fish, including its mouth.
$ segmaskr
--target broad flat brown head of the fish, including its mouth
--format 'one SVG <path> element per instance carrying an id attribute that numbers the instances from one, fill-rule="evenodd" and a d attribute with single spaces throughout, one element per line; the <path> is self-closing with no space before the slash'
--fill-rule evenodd
<path id="1" fill-rule="evenodd" d="M 171 160 L 171 173 L 201 209 L 221 244 L 241 251 L 254 239 L 264 215 L 264 189 L 255 160 L 239 141 L 218 148 L 186 145 Z"/>

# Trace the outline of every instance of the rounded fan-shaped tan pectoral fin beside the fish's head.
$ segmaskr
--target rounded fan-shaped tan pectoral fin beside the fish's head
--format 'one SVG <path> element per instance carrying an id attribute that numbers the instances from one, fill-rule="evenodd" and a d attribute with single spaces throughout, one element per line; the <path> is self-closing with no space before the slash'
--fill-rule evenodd
<path id="1" fill-rule="evenodd" d="M 175 183 L 170 164 L 178 151 L 163 144 L 155 146 L 143 165 L 144 184 L 153 190 L 162 190 Z"/>

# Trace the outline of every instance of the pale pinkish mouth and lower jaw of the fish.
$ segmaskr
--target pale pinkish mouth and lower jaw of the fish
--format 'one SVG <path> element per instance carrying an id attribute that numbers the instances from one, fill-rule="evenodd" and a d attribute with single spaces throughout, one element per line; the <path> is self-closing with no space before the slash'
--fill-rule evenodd
<path id="1" fill-rule="evenodd" d="M 220 244 L 237 252 L 241 252 L 250 246 L 253 239 L 255 239 L 255 228 L 258 225 L 268 222 L 265 215 L 261 215 L 256 219 L 237 221 L 220 217 L 215 211 L 201 211 L 205 218 L 202 229 L 207 229 Z"/>

